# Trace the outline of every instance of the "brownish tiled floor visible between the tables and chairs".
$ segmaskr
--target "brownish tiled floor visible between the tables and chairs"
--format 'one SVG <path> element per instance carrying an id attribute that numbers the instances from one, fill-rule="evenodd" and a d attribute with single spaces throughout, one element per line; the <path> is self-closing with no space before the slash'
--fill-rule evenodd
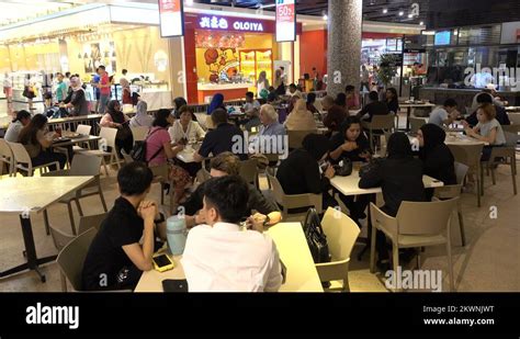
<path id="1" fill-rule="evenodd" d="M 114 173 L 113 173 L 114 174 Z M 116 194 L 115 178 L 102 178 L 102 185 L 109 207 Z M 517 177 L 517 182 L 518 182 Z M 1 179 L 0 179 L 1 180 Z M 518 219 L 519 195 L 512 194 L 509 169 L 500 167 L 497 173 L 497 185 L 486 178 L 485 195 L 482 207 L 476 206 L 474 194 L 462 195 L 466 246 L 461 247 L 457 224 L 452 228 L 453 259 L 456 290 L 475 291 L 520 291 L 520 227 Z M 263 181 L 263 184 L 265 182 Z M 151 199 L 158 201 L 159 187 L 152 187 Z M 87 197 L 82 202 L 86 215 L 102 212 L 99 197 Z M 490 217 L 490 208 L 497 207 L 497 218 Z M 76 213 L 76 210 L 75 210 Z M 77 216 L 77 214 L 76 214 Z M 56 204 L 49 208 L 49 218 L 54 227 L 70 233 L 70 225 L 65 205 Z M 23 262 L 23 240 L 16 215 L 0 216 L 0 270 Z M 45 235 L 42 215 L 33 217 L 33 230 L 38 256 L 56 253 L 50 236 Z M 365 233 L 363 229 L 362 235 Z M 384 292 L 383 279 L 369 272 L 369 252 L 362 261 L 355 255 L 363 245 L 353 249 L 350 264 L 350 286 L 353 292 Z M 427 248 L 421 256 L 423 270 L 442 270 L 443 291 L 448 290 L 446 256 L 444 247 Z M 415 261 L 414 261 L 415 262 Z M 34 272 L 24 272 L 0 280 L 0 291 L 56 292 L 60 291 L 59 273 L 56 263 L 42 268 L 47 276 L 41 283 Z"/>

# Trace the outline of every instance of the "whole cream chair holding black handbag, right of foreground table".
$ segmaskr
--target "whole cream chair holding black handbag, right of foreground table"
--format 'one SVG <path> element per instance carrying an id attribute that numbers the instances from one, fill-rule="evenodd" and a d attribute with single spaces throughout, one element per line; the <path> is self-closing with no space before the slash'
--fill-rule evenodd
<path id="1" fill-rule="evenodd" d="M 352 248 L 360 234 L 358 225 L 346 214 L 328 207 L 321 219 L 321 228 L 327 237 L 330 262 L 316 263 L 319 280 L 328 282 L 342 280 L 341 291 L 349 292 L 349 263 Z"/>

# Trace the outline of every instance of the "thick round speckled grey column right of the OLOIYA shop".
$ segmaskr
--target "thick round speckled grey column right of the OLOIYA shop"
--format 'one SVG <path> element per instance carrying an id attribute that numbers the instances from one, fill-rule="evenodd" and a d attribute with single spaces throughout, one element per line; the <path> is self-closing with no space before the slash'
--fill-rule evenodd
<path id="1" fill-rule="evenodd" d="M 327 94 L 360 89 L 361 25 L 363 0 L 329 0 Z"/>

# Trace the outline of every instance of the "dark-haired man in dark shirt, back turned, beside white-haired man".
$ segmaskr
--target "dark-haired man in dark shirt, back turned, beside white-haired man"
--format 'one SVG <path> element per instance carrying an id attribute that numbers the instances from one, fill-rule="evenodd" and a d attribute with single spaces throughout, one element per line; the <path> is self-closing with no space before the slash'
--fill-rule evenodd
<path id="1" fill-rule="evenodd" d="M 206 134 L 201 148 L 193 157 L 194 160 L 201 162 L 210 154 L 217 156 L 223 151 L 233 151 L 240 160 L 246 160 L 248 143 L 244 142 L 244 134 L 240 128 L 227 122 L 227 112 L 223 109 L 216 109 L 212 113 L 212 121 L 216 128 Z"/>

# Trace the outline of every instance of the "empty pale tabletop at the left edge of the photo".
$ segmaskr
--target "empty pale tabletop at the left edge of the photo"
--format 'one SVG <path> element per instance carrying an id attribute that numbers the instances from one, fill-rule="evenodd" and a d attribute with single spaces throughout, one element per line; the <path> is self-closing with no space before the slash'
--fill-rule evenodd
<path id="1" fill-rule="evenodd" d="M 16 177 L 0 180 L 0 212 L 41 212 L 94 177 Z"/>

